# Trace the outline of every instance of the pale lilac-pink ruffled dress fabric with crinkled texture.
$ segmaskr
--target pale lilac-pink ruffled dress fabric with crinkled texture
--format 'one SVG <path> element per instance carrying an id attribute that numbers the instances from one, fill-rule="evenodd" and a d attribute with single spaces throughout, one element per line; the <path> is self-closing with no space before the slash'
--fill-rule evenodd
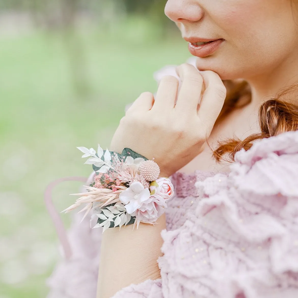
<path id="1" fill-rule="evenodd" d="M 189 185 L 194 177 L 179 190 L 187 200 L 173 200 L 182 199 L 184 223 L 162 231 L 156 297 L 298 297 L 298 132 L 240 151 L 227 175 L 195 177 L 197 200 Z M 187 177 L 173 176 L 178 184 L 181 179 Z M 168 218 L 177 207 L 169 208 Z M 144 294 L 151 287 L 146 281 L 114 298 L 151 297 Z"/>

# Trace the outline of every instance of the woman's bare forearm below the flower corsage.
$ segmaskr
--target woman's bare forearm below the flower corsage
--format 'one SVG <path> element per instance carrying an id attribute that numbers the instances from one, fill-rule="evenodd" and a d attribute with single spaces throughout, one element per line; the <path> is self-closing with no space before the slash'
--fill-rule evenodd
<path id="1" fill-rule="evenodd" d="M 165 227 L 162 215 L 155 225 L 140 223 L 134 231 L 130 225 L 103 233 L 97 298 L 110 298 L 126 286 L 160 278 L 157 259 Z"/>

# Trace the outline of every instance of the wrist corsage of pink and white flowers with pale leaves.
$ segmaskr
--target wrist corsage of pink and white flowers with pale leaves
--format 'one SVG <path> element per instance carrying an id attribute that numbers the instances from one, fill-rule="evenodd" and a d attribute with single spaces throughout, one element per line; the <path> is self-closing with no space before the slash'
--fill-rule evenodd
<path id="1" fill-rule="evenodd" d="M 121 154 L 91 148 L 77 147 L 89 157 L 85 164 L 92 164 L 96 172 L 94 182 L 85 186 L 87 192 L 79 195 L 72 206 L 63 212 L 70 212 L 83 204 L 80 212 L 86 215 L 93 210 L 92 219 L 97 217 L 94 228 L 108 228 L 140 223 L 155 224 L 167 208 L 167 201 L 174 194 L 174 187 L 167 177 L 158 178 L 159 166 L 153 160 L 125 148 Z M 82 220 L 83 220 L 82 219 Z"/>

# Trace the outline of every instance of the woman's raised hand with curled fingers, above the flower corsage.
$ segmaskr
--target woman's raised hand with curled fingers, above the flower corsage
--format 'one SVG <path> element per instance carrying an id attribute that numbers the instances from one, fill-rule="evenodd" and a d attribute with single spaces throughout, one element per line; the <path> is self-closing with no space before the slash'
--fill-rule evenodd
<path id="1" fill-rule="evenodd" d="M 182 64 L 177 73 L 182 81 L 179 93 L 173 76 L 162 78 L 155 99 L 150 92 L 142 93 L 120 120 L 110 148 L 130 148 L 154 158 L 161 176 L 172 175 L 201 153 L 226 97 L 213 71 Z"/>

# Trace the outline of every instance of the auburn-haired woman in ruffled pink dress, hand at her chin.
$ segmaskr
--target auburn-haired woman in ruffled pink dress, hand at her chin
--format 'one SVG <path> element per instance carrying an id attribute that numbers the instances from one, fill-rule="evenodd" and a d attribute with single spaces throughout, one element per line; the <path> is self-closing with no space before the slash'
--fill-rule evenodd
<path id="1" fill-rule="evenodd" d="M 199 72 L 141 94 L 110 149 L 154 157 L 176 195 L 158 225 L 103 234 L 97 297 L 297 297 L 297 7 L 167 1 Z"/>

